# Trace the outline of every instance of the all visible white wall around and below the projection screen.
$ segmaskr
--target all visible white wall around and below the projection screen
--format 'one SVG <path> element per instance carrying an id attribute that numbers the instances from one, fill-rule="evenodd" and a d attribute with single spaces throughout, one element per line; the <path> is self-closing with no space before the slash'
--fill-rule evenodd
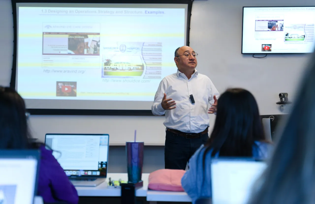
<path id="1" fill-rule="evenodd" d="M 220 92 L 228 87 L 251 91 L 261 114 L 278 111 L 278 94 L 294 96 L 295 87 L 308 61 L 307 55 L 269 55 L 263 59 L 241 54 L 243 6 L 312 6 L 312 0 L 195 0 L 192 8 L 190 46 L 198 52 L 198 71 L 211 78 Z M 0 84 L 9 85 L 13 20 L 10 0 L 0 1 Z M 34 137 L 44 139 L 46 133 L 109 133 L 111 144 L 120 137 L 133 138 L 137 129 L 139 140 L 156 138 L 163 145 L 163 117 L 154 116 L 31 116 Z M 212 126 L 214 117 L 210 118 Z M 144 172 L 164 167 L 163 146 L 145 148 Z M 126 172 L 124 147 L 111 146 L 109 172 Z"/>

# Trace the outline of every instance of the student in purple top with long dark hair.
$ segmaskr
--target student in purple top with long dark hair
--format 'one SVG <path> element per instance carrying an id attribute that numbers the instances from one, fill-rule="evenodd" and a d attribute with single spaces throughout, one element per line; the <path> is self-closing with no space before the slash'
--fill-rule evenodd
<path id="1" fill-rule="evenodd" d="M 78 203 L 77 191 L 52 151 L 32 140 L 24 100 L 14 89 L 6 87 L 0 87 L 0 149 L 40 149 L 37 195 L 42 196 L 46 203 Z"/>

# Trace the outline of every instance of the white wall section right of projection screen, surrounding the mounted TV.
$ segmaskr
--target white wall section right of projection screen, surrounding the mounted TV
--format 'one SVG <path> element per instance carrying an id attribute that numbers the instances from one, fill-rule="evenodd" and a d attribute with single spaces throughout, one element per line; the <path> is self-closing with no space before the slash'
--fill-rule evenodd
<path id="1" fill-rule="evenodd" d="M 190 45 L 198 53 L 197 68 L 211 78 L 220 92 L 229 87 L 248 89 L 261 114 L 280 113 L 278 94 L 288 93 L 293 99 L 308 55 L 268 55 L 261 59 L 242 55 L 242 7 L 312 5 L 315 2 L 311 0 L 194 1 Z"/>

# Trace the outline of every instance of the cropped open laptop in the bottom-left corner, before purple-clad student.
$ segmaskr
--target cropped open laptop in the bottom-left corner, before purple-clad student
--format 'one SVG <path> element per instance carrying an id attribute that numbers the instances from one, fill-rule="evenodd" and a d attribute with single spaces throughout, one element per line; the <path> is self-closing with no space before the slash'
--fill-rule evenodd
<path id="1" fill-rule="evenodd" d="M 0 150 L 0 203 L 33 204 L 39 158 L 38 150 Z"/>

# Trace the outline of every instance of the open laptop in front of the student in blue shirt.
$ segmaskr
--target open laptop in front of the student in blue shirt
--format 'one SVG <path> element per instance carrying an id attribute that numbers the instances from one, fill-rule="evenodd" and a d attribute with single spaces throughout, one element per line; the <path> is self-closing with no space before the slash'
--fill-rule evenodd
<path id="1" fill-rule="evenodd" d="M 265 169 L 266 162 L 250 158 L 212 159 L 212 204 L 246 204 Z"/>

